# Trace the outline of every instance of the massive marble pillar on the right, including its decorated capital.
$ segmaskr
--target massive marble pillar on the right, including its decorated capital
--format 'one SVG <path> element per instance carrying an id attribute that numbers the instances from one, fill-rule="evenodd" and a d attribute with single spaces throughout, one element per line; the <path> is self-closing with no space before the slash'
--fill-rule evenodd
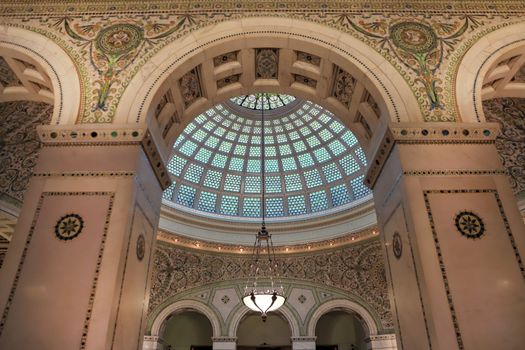
<path id="1" fill-rule="evenodd" d="M 400 349 L 521 349 L 525 227 L 493 123 L 391 125 L 370 161 Z"/>

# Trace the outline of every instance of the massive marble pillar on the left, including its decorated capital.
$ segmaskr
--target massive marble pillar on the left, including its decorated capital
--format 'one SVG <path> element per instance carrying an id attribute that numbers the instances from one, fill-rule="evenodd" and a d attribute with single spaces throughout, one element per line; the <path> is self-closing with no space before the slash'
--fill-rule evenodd
<path id="1" fill-rule="evenodd" d="M 169 181 L 155 143 L 136 125 L 38 134 L 43 147 L 0 271 L 0 348 L 140 348 Z"/>

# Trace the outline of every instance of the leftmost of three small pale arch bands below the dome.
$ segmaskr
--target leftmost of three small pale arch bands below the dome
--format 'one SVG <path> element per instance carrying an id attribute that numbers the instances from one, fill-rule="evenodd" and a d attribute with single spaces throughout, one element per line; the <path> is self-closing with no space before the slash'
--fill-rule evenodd
<path id="1" fill-rule="evenodd" d="M 213 329 L 213 336 L 218 337 L 221 335 L 221 325 L 219 317 L 215 314 L 215 312 L 213 312 L 213 310 L 209 306 L 195 300 L 180 300 L 162 309 L 162 311 L 159 312 L 159 314 L 157 315 L 157 317 L 155 317 L 153 321 L 153 324 L 151 326 L 151 335 L 161 337 L 163 327 L 168 317 L 171 314 L 182 310 L 192 310 L 203 314 L 208 318 L 208 320 L 211 323 Z"/>

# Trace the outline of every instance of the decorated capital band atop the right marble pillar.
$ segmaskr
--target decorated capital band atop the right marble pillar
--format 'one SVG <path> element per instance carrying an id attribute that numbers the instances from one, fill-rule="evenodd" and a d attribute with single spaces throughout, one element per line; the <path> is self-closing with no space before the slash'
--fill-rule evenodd
<path id="1" fill-rule="evenodd" d="M 394 145 L 468 145 L 494 144 L 499 134 L 497 123 L 391 123 L 380 141 L 372 146 L 365 184 L 370 188 L 381 174 Z"/>

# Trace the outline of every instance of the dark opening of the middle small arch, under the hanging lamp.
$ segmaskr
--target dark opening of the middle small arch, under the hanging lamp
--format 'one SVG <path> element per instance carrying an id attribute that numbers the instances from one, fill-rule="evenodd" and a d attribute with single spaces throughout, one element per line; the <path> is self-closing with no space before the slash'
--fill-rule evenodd
<path id="1" fill-rule="evenodd" d="M 279 313 L 268 315 L 266 322 L 261 316 L 248 313 L 237 328 L 237 349 L 291 349 L 291 331 L 286 319 Z"/>

